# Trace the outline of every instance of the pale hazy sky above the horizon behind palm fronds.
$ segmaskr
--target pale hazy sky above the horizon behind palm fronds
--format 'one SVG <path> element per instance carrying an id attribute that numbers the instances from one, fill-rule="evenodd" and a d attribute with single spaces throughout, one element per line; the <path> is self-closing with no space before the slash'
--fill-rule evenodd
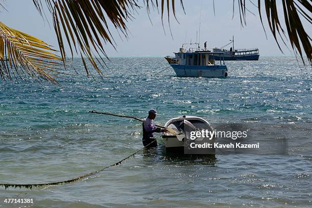
<path id="1" fill-rule="evenodd" d="M 256 4 L 257 1 L 251 0 Z M 43 1 L 44 2 L 44 1 Z M 174 51 L 178 51 L 182 43 L 194 42 L 196 40 L 196 32 L 199 36 L 200 23 L 200 44 L 207 41 L 207 47 L 221 47 L 229 42 L 234 36 L 235 48 L 254 48 L 258 47 L 261 56 L 292 56 L 293 51 L 282 45 L 284 55 L 279 50 L 270 30 L 265 17 L 264 25 L 267 32 L 265 35 L 258 11 L 249 1 L 246 1 L 247 8 L 255 15 L 247 13 L 247 25 L 241 27 L 240 15 L 238 11 L 238 3 L 235 4 L 235 13 L 233 15 L 233 1 L 220 0 L 215 1 L 215 13 L 212 0 L 184 0 L 184 8 L 180 6 L 179 1 L 176 2 L 176 18 L 171 13 L 170 30 L 168 27 L 167 13 L 164 14 L 164 27 L 161 21 L 161 15 L 155 11 L 151 11 L 150 19 L 148 18 L 143 1 L 139 0 L 139 4 L 143 7 L 134 14 L 135 19 L 127 24 L 129 36 L 120 38 L 118 32 L 112 28 L 116 49 L 112 45 L 106 45 L 105 51 L 109 57 L 123 56 L 168 56 L 173 55 Z M 0 21 L 11 28 L 36 36 L 50 45 L 58 49 L 58 42 L 53 29 L 44 21 L 38 11 L 35 9 L 32 0 L 9 0 L 4 2 L 4 6 L 8 10 L 1 10 Z M 279 7 L 282 9 L 282 7 Z M 281 11 L 281 10 L 279 10 Z M 48 12 L 47 12 L 48 13 Z M 47 15 L 48 19 L 51 19 Z M 151 23 L 152 22 L 152 23 Z M 306 28 L 306 32 L 311 34 L 312 28 L 310 24 Z M 199 37 L 198 37 L 199 39 Z M 288 46 L 290 47 L 289 42 Z M 281 42 L 281 44 L 283 44 Z M 228 47 L 225 47 L 229 49 Z M 69 48 L 66 47 L 66 53 L 69 55 Z M 77 55 L 74 55 L 77 57 Z"/>

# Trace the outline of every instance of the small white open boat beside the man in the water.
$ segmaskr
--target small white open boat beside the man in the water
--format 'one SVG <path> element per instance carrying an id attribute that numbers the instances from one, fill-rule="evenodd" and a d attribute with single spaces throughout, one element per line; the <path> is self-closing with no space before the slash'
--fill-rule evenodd
<path id="1" fill-rule="evenodd" d="M 168 120 L 165 127 L 170 129 L 163 133 L 163 141 L 167 151 L 186 150 L 186 139 L 190 138 L 190 131 L 202 131 L 202 129 L 213 132 L 213 127 L 205 119 L 197 116 L 180 116 Z M 214 143 L 215 138 L 211 140 L 202 140 L 204 142 Z M 209 149 L 209 154 L 215 154 L 215 149 Z"/>

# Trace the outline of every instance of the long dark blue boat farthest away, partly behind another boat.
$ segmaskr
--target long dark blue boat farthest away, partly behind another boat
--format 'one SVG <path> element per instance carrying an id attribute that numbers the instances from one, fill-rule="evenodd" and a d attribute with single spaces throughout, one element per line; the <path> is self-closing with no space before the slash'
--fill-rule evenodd
<path id="1" fill-rule="evenodd" d="M 224 49 L 227 45 L 232 44 L 229 50 Z M 222 56 L 218 54 L 215 60 L 225 60 L 225 61 L 257 61 L 259 60 L 259 49 L 258 48 L 244 48 L 244 49 L 234 49 L 234 36 L 230 42 L 220 48 L 213 48 L 213 52 L 223 52 Z"/>

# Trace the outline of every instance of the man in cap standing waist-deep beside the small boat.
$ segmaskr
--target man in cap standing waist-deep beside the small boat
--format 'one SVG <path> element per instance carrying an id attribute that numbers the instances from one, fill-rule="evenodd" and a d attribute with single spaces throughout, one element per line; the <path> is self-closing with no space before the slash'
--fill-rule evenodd
<path id="1" fill-rule="evenodd" d="M 145 120 L 143 121 L 142 125 L 143 125 L 143 145 L 146 146 L 148 144 L 147 148 L 155 148 L 157 147 L 157 141 L 154 139 L 154 132 L 166 132 L 167 129 L 161 129 L 159 127 L 156 127 L 154 124 L 154 119 L 157 115 L 157 112 L 155 111 L 155 109 L 150 109 L 148 111 L 148 116 L 147 118 L 145 118 Z"/>

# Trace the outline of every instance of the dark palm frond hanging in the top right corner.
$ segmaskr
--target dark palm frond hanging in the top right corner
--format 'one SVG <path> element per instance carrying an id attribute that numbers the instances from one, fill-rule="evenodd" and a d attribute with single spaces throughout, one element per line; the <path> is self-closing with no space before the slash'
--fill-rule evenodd
<path id="1" fill-rule="evenodd" d="M 241 24 L 246 24 L 246 4 L 245 0 L 238 0 L 239 8 L 240 8 L 240 19 Z M 304 54 L 309 60 L 310 64 L 312 61 L 312 47 L 311 47 L 311 38 L 306 33 L 301 18 L 308 21 L 308 23 L 312 23 L 311 13 L 312 13 L 312 5 L 311 1 L 308 0 L 282 0 L 282 9 L 283 9 L 283 17 L 285 21 L 285 27 L 287 29 L 287 36 L 285 34 L 285 30 L 281 26 L 279 17 L 278 17 L 278 9 L 277 2 L 275 0 L 258 0 L 258 12 L 261 19 L 261 23 L 264 28 L 264 22 L 262 17 L 262 5 L 265 6 L 267 21 L 271 30 L 271 33 L 279 47 L 282 51 L 278 37 L 282 40 L 282 42 L 286 45 L 284 38 L 288 37 L 295 54 L 299 53 L 303 63 L 304 63 Z M 233 3 L 234 4 L 234 3 Z"/>

